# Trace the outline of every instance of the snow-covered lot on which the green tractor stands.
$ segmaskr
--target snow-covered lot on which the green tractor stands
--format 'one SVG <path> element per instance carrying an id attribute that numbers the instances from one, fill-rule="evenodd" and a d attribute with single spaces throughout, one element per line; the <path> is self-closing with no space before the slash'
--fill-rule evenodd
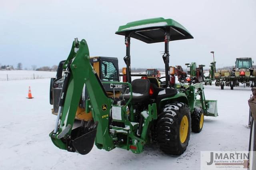
<path id="1" fill-rule="evenodd" d="M 118 148 L 107 152 L 96 146 L 87 155 L 60 150 L 48 136 L 56 120 L 51 114 L 49 83 L 50 79 L 0 82 L 0 170 L 199 170 L 200 151 L 248 150 L 250 88 L 231 91 L 214 85 L 205 86 L 205 95 L 218 99 L 219 117 L 205 117 L 202 132 L 191 134 L 181 156 L 168 156 L 156 146 L 147 146 L 142 154 Z M 26 99 L 28 86 L 34 99 Z"/>

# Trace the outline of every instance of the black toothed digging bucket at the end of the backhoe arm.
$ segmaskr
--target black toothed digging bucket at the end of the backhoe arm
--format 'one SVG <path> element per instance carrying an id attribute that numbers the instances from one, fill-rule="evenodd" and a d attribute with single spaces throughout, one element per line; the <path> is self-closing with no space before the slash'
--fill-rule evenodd
<path id="1" fill-rule="evenodd" d="M 71 140 L 70 146 L 68 146 L 68 151 L 78 152 L 82 155 L 88 154 L 94 145 L 97 125 L 98 122 L 94 123 L 94 125 L 91 125 L 91 123 L 88 122 L 86 127 L 81 125 L 80 127 L 74 128 L 71 131 Z"/>

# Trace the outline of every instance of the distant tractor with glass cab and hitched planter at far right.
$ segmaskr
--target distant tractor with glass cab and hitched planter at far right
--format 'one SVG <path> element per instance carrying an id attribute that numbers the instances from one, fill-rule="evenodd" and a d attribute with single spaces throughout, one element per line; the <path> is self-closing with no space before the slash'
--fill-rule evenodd
<path id="1" fill-rule="evenodd" d="M 215 85 L 224 89 L 224 86 L 230 86 L 233 90 L 240 83 L 244 87 L 255 87 L 256 85 L 256 69 L 252 67 L 252 58 L 236 58 L 236 66 L 233 70 L 222 69 L 214 73 L 216 79 Z"/>

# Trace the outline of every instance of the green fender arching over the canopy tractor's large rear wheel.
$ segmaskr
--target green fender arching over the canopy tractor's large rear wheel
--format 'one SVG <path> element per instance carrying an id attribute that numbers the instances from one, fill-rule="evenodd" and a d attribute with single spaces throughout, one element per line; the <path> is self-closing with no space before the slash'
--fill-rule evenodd
<path id="1" fill-rule="evenodd" d="M 172 97 L 167 97 L 165 99 L 162 99 L 159 103 L 159 108 L 164 107 L 164 105 L 168 103 L 173 103 L 175 101 L 182 102 L 188 105 L 188 98 L 185 93 L 177 93 L 176 95 Z"/>

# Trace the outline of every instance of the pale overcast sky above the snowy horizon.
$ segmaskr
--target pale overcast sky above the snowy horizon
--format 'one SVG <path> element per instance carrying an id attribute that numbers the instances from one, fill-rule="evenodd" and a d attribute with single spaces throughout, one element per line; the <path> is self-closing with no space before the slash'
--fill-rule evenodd
<path id="1" fill-rule="evenodd" d="M 85 39 L 91 56 L 118 57 L 124 37 L 118 26 L 147 18 L 171 18 L 194 39 L 170 42 L 170 65 L 195 61 L 217 67 L 236 57 L 256 61 L 256 0 L 0 0 L 0 63 L 23 68 L 58 65 L 74 38 Z M 162 67 L 164 43 L 131 40 L 131 66 Z"/>

